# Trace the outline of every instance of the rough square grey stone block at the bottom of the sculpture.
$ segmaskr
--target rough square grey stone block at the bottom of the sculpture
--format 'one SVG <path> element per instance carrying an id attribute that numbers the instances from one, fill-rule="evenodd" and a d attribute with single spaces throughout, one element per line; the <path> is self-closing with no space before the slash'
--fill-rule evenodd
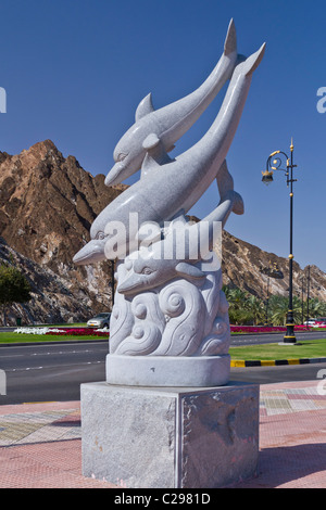
<path id="1" fill-rule="evenodd" d="M 82 385 L 83 474 L 126 488 L 226 487 L 256 473 L 259 385 Z"/>

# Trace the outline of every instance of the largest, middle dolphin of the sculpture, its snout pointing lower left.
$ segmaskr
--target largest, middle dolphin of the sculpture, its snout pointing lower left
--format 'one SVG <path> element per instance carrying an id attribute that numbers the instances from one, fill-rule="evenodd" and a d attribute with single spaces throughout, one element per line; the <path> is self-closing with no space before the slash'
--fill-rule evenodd
<path id="1" fill-rule="evenodd" d="M 216 178 L 240 117 L 265 43 L 248 59 L 241 56 L 230 79 L 221 110 L 209 131 L 193 146 L 171 160 L 155 133 L 143 142 L 147 155 L 140 179 L 121 193 L 95 219 L 91 240 L 75 255 L 77 265 L 105 258 L 125 258 L 138 250 L 137 232 L 129 228 L 130 213 L 138 214 L 140 225 L 163 225 L 187 212 L 198 202 Z M 124 229 L 114 229 L 123 225 Z M 118 231 L 120 230 L 120 231 Z M 113 243 L 114 238 L 114 243 Z"/>

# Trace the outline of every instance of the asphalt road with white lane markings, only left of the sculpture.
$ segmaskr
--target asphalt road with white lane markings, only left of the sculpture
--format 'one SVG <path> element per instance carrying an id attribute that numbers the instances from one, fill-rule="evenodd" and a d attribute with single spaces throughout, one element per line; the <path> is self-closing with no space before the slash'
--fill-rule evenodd
<path id="1" fill-rule="evenodd" d="M 78 400 L 80 384 L 105 380 L 106 342 L 0 346 L 7 395 L 0 405 Z"/>

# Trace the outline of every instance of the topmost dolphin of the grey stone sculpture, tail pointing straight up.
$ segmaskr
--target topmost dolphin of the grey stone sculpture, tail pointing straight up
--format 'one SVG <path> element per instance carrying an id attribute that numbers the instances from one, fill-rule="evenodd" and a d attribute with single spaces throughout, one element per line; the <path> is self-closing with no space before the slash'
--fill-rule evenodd
<path id="1" fill-rule="evenodd" d="M 117 184 L 139 170 L 146 156 L 142 142 L 151 132 L 154 132 L 162 141 L 165 151 L 171 152 L 175 142 L 190 129 L 224 84 L 231 77 L 237 58 L 237 36 L 231 20 L 223 55 L 213 72 L 197 90 L 160 110 L 154 110 L 151 94 L 148 94 L 139 103 L 135 124 L 114 149 L 113 158 L 116 163 L 109 171 L 105 184 Z"/>

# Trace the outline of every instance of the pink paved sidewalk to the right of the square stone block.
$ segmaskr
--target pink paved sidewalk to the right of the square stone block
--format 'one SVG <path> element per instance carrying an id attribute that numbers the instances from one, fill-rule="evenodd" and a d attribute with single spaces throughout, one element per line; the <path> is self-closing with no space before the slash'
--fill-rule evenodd
<path id="1" fill-rule="evenodd" d="M 259 476 L 239 487 L 326 488 L 326 396 L 318 382 L 261 386 Z"/>

